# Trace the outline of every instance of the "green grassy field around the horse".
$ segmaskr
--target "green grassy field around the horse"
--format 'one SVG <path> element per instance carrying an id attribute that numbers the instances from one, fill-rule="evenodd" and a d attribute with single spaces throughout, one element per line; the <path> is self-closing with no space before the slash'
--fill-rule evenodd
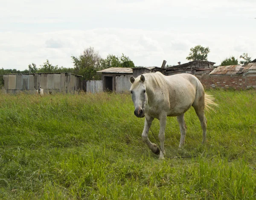
<path id="1" fill-rule="evenodd" d="M 256 199 L 256 91 L 208 93 L 207 144 L 190 109 L 182 149 L 168 118 L 165 160 L 142 142 L 129 94 L 0 94 L 0 199 Z"/>

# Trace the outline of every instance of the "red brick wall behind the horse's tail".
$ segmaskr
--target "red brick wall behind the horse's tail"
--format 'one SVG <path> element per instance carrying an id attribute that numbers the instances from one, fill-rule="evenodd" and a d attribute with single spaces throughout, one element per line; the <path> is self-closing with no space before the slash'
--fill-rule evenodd
<path id="1" fill-rule="evenodd" d="M 234 89 L 248 89 L 250 87 L 256 88 L 256 74 L 232 74 L 232 75 L 196 75 L 204 88 L 234 88 Z"/>

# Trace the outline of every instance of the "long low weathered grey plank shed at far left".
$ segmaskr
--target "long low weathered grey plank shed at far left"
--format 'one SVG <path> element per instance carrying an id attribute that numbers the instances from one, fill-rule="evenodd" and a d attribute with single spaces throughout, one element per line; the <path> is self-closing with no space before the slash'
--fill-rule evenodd
<path id="1" fill-rule="evenodd" d="M 6 74 L 4 93 L 74 93 L 79 90 L 79 76 L 73 73 Z"/>

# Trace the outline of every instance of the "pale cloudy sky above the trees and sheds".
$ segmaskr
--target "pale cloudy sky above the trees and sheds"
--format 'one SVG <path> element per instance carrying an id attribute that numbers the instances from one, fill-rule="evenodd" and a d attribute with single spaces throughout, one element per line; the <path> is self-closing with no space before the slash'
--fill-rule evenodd
<path id="1" fill-rule="evenodd" d="M 105 59 L 122 53 L 135 66 L 188 62 L 190 48 L 208 60 L 248 53 L 256 59 L 256 0 L 0 0 L 0 68 L 28 69 L 48 59 L 73 68 L 71 56 L 93 47 Z"/>

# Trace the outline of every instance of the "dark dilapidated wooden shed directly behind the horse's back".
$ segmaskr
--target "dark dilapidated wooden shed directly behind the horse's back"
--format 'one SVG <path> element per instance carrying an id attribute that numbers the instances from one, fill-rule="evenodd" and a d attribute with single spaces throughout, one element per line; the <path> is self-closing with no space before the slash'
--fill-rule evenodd
<path id="1" fill-rule="evenodd" d="M 209 62 L 204 60 L 194 60 L 186 62 L 181 65 L 175 65 L 167 67 L 165 71 L 166 76 L 174 75 L 177 73 L 191 73 L 191 74 L 205 74 L 210 73 L 213 70 L 215 62 Z"/>

